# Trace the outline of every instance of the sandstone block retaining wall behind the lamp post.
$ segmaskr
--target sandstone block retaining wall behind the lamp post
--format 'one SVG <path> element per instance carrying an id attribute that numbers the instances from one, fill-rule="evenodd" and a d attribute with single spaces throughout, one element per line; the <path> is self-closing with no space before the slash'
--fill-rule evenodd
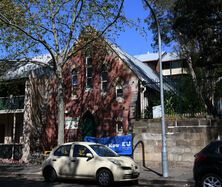
<path id="1" fill-rule="evenodd" d="M 133 123 L 134 159 L 146 164 L 161 164 L 162 133 L 160 120 Z M 222 120 L 166 120 L 168 163 L 193 165 L 194 155 L 210 141 L 222 138 Z"/>

